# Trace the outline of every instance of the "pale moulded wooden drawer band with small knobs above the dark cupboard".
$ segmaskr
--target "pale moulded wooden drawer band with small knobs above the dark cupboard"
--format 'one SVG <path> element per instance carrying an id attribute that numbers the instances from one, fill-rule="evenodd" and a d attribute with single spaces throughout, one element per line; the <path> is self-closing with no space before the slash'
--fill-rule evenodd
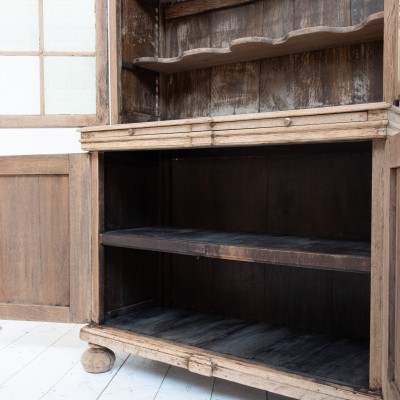
<path id="1" fill-rule="evenodd" d="M 86 127 L 82 150 L 149 150 L 386 137 L 388 103 Z"/>

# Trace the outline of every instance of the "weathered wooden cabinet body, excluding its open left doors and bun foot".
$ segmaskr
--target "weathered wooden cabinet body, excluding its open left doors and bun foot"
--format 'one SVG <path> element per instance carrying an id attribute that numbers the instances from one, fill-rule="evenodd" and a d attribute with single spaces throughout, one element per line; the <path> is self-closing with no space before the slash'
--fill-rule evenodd
<path id="1" fill-rule="evenodd" d="M 83 340 L 296 399 L 400 399 L 398 9 L 111 2 L 115 125 L 81 132 Z"/>

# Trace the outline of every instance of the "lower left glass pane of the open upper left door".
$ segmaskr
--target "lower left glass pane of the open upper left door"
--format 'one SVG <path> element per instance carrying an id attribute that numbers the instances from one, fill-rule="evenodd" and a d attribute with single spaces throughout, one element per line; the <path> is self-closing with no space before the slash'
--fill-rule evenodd
<path id="1" fill-rule="evenodd" d="M 0 57 L 0 114 L 40 114 L 39 57 Z"/>

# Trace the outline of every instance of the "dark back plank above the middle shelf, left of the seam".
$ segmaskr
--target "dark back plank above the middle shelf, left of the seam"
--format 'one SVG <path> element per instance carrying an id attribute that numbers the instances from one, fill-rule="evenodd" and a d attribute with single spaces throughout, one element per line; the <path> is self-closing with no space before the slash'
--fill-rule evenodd
<path id="1" fill-rule="evenodd" d="M 173 158 L 171 225 L 265 232 L 265 157 Z"/>

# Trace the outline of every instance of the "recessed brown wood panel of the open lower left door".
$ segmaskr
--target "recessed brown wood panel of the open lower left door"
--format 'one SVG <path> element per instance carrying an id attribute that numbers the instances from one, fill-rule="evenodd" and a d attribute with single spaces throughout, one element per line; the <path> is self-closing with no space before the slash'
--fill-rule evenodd
<path id="1" fill-rule="evenodd" d="M 0 188 L 0 302 L 69 306 L 68 177 L 5 176 Z"/>

